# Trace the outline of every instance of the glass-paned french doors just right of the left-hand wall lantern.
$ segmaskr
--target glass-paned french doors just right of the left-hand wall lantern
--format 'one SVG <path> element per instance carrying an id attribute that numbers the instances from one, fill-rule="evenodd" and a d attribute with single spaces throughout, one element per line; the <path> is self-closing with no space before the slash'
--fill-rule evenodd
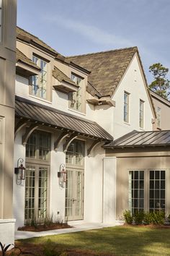
<path id="1" fill-rule="evenodd" d="M 24 221 L 43 223 L 48 215 L 49 167 L 27 163 L 25 179 Z"/>

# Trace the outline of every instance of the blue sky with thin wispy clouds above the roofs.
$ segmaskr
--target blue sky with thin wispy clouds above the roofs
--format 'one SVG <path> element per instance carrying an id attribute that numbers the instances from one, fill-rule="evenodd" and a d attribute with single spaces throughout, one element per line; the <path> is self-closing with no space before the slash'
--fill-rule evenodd
<path id="1" fill-rule="evenodd" d="M 170 69 L 170 0 L 18 0 L 17 25 L 64 56 L 138 46 Z M 170 71 L 168 78 L 170 79 Z"/>

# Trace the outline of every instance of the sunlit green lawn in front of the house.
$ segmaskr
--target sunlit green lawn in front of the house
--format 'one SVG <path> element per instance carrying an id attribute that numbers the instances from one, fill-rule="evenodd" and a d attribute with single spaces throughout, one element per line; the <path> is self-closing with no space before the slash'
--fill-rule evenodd
<path id="1" fill-rule="evenodd" d="M 88 249 L 115 255 L 170 255 L 170 229 L 147 227 L 117 226 L 19 242 L 40 246 L 48 239 L 53 245 L 66 249 Z"/>

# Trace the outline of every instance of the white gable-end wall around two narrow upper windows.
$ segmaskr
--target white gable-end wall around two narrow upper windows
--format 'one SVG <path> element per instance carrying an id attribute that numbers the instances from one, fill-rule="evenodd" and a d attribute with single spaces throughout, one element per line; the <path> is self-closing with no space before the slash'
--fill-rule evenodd
<path id="1" fill-rule="evenodd" d="M 130 121 L 126 124 L 123 120 L 123 101 L 124 92 L 130 93 L 129 95 L 129 113 Z M 139 127 L 139 106 L 140 99 L 144 101 L 144 127 Z M 130 64 L 121 84 L 117 88 L 113 100 L 116 102 L 114 108 L 114 138 L 117 139 L 122 135 L 131 132 L 133 129 L 138 131 L 152 130 L 153 113 L 151 105 L 146 93 L 146 85 L 143 80 L 143 75 L 138 63 L 138 57 L 135 55 Z"/>

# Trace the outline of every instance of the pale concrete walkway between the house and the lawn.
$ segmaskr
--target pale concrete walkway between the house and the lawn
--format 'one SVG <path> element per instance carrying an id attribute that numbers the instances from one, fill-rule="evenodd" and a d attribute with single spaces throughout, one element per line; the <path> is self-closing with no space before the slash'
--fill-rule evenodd
<path id="1" fill-rule="evenodd" d="M 73 232 L 90 230 L 90 229 L 102 229 L 104 227 L 112 226 L 110 224 L 105 225 L 103 223 L 86 223 L 84 221 L 69 221 L 68 224 L 70 226 L 73 226 L 73 228 L 55 229 L 55 230 L 41 231 L 41 232 L 15 231 L 15 240 L 27 239 L 27 238 L 38 237 L 38 236 L 50 236 L 50 235 L 57 235 L 57 234 L 73 233 Z"/>

